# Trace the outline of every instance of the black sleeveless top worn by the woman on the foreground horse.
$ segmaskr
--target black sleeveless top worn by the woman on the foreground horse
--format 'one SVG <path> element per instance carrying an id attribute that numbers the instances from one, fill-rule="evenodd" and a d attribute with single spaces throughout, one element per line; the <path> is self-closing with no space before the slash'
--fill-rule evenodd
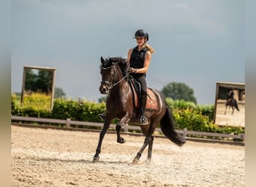
<path id="1" fill-rule="evenodd" d="M 142 68 L 144 67 L 144 60 L 145 60 L 145 55 L 147 52 L 147 48 L 144 47 L 144 49 L 141 49 L 138 51 L 138 46 L 135 46 L 132 50 L 131 57 L 129 59 L 129 67 L 133 68 Z M 136 77 L 141 77 L 141 76 L 146 76 L 146 73 L 131 73 L 132 76 Z"/>

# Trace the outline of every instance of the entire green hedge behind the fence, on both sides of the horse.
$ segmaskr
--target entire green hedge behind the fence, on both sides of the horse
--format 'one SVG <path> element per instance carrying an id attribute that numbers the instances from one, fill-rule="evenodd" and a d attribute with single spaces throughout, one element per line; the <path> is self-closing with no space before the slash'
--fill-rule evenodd
<path id="1" fill-rule="evenodd" d="M 177 129 L 187 129 L 200 132 L 219 132 L 226 134 L 245 133 L 242 127 L 217 126 L 213 124 L 214 105 L 195 105 L 193 102 L 183 100 L 166 99 L 172 109 Z M 36 105 L 19 106 L 19 100 L 15 95 L 11 98 L 11 114 L 26 117 L 46 117 L 54 119 L 91 122 L 103 122 L 98 114 L 105 111 L 105 102 L 96 103 L 88 101 L 76 101 L 73 99 L 55 99 L 52 111 L 40 109 Z M 112 123 L 118 123 L 113 120 Z"/>

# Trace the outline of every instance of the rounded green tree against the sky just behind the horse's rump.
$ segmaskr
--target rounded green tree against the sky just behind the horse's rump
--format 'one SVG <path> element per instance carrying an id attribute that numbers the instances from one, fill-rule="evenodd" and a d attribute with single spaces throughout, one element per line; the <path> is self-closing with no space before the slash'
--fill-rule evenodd
<path id="1" fill-rule="evenodd" d="M 194 96 L 194 91 L 192 88 L 189 88 L 188 85 L 181 82 L 171 82 L 168 83 L 164 88 L 162 88 L 162 94 L 165 97 L 171 97 L 174 100 L 185 100 L 190 102 L 197 103 Z"/>

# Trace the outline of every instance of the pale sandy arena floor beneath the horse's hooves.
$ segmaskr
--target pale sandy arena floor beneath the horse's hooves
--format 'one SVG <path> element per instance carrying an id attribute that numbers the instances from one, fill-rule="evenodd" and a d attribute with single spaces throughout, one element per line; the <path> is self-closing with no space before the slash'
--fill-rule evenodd
<path id="1" fill-rule="evenodd" d="M 132 165 L 142 136 L 116 143 L 107 133 L 92 163 L 98 132 L 11 126 L 11 186 L 245 186 L 245 147 L 155 138 L 153 158 Z"/>

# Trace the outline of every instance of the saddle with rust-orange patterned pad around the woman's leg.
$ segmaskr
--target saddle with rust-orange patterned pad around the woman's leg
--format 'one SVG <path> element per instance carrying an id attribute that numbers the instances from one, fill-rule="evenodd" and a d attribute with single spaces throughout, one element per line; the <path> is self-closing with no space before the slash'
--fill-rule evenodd
<path id="1" fill-rule="evenodd" d="M 129 85 L 132 88 L 133 103 L 135 108 L 139 108 L 139 96 L 141 95 L 141 84 L 137 82 L 134 78 L 129 78 Z M 151 88 L 147 88 L 147 104 L 145 110 L 156 111 L 156 95 L 153 93 Z"/>

